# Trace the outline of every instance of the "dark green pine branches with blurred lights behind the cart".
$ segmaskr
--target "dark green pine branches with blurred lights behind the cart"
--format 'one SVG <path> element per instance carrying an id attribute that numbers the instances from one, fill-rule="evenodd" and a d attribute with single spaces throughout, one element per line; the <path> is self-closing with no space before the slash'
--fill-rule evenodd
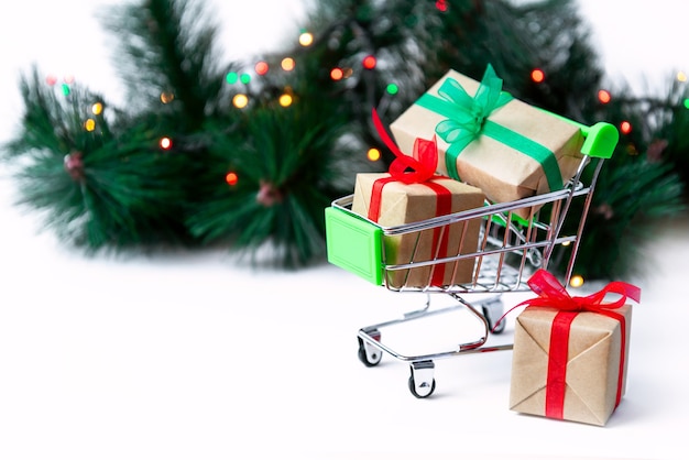
<path id="1" fill-rule="evenodd" d="M 200 0 L 112 7 L 101 20 L 116 41 L 127 107 L 84 88 L 65 96 L 35 69 L 24 78 L 21 131 L 3 149 L 19 171 L 22 202 L 89 250 L 222 244 L 254 263 L 265 254 L 284 267 L 319 262 L 324 208 L 351 193 L 357 173 L 383 171 L 393 158 L 371 109 L 390 123 L 447 70 L 480 79 L 490 63 L 504 89 L 534 106 L 589 125 L 631 122 L 601 171 L 575 270 L 589 278 L 633 272 L 654 226 L 685 210 L 686 88 L 675 83 L 667 97 L 638 98 L 606 85 L 614 96 L 601 103 L 603 72 L 573 0 L 446 4 L 313 2 L 302 24 L 314 33 L 310 46 L 250 56 L 248 65 L 221 63 L 219 24 Z M 280 70 L 285 56 L 294 70 Z M 364 68 L 367 56 L 376 58 L 373 68 Z M 229 72 L 252 73 L 259 58 L 271 72 L 226 83 Z M 344 77 L 331 78 L 333 68 Z M 545 81 L 531 79 L 535 68 Z M 249 98 L 243 109 L 232 106 L 238 94 Z M 293 97 L 289 107 L 277 103 L 283 94 Z M 89 112 L 96 101 L 103 114 Z M 85 130 L 87 118 L 94 131 Z M 163 136 L 172 149 L 161 150 Z M 365 160 L 371 146 L 381 162 Z M 234 185 L 226 182 L 230 172 Z M 580 211 L 571 210 L 577 219 L 566 231 Z M 554 270 L 564 269 L 562 255 Z"/>

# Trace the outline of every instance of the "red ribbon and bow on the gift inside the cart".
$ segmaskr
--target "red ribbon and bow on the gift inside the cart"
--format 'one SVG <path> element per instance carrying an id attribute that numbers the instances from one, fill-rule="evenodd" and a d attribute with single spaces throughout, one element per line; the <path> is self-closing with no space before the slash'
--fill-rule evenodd
<path id="1" fill-rule="evenodd" d="M 387 149 L 394 153 L 395 160 L 391 163 L 387 169 L 390 177 L 382 177 L 373 183 L 368 218 L 378 222 L 383 200 L 383 187 L 385 184 L 391 182 L 401 182 L 403 184 L 423 184 L 429 187 L 438 196 L 436 201 L 436 216 L 450 213 L 452 211 L 452 195 L 450 190 L 440 184 L 431 182 L 431 179 L 436 178 L 448 178 L 447 176 L 436 175 L 436 167 L 438 166 L 438 146 L 436 138 L 434 136 L 431 141 L 417 138 L 414 142 L 414 152 L 412 156 L 405 155 L 385 131 L 385 128 L 383 127 L 375 109 L 373 109 L 372 118 L 373 124 L 381 136 L 381 140 L 385 143 Z M 407 171 L 409 168 L 412 169 L 411 172 Z M 439 254 L 446 254 L 448 245 L 449 232 L 445 231 L 442 239 L 440 239 L 440 228 L 435 228 L 433 232 L 433 248 L 438 249 Z M 445 264 L 435 265 L 431 285 L 441 285 L 444 278 Z"/>

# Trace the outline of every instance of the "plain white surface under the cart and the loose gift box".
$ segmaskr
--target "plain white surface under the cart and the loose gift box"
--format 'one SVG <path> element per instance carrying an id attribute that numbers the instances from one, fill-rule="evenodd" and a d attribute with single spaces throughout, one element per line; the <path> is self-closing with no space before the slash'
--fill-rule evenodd
<path id="1" fill-rule="evenodd" d="M 253 18 L 265 8 L 245 4 Z M 98 67 L 106 56 L 72 54 L 66 44 L 86 36 L 99 50 L 85 12 L 95 8 L 14 4 L 15 13 L 0 20 L 6 68 L 37 61 L 89 83 L 107 76 Z M 1 78 L 4 99 L 15 94 L 14 76 Z M 8 100 L 1 110 L 4 140 L 18 105 Z M 415 295 L 329 265 L 256 273 L 222 252 L 86 259 L 50 233 L 36 234 L 35 219 L 11 199 L 2 175 L 2 459 L 686 457 L 686 222 L 658 230 L 646 250 L 648 275 L 627 280 L 643 289 L 627 394 L 600 428 L 510 412 L 508 351 L 438 361 L 429 399 L 409 394 L 407 364 L 385 357 L 378 368 L 363 366 L 357 330 L 420 306 Z M 415 337 L 439 340 L 435 332 Z"/>

